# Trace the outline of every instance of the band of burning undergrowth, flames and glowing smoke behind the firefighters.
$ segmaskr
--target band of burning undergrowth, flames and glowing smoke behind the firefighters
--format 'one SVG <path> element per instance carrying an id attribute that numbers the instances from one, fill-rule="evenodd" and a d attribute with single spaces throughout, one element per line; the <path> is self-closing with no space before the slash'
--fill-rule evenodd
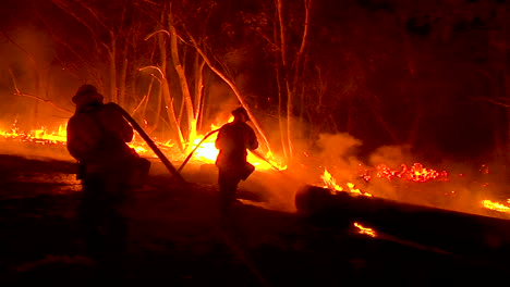
<path id="1" fill-rule="evenodd" d="M 211 126 L 211 130 L 216 128 Z M 14 123 L 0 130 L 0 135 L 2 153 L 73 161 L 65 149 L 64 124 L 53 129 L 41 127 L 23 132 Z M 186 149 L 187 153 L 194 150 L 190 165 L 202 167 L 189 166 L 183 174 L 198 173 L 215 183 L 216 135 L 202 140 L 204 136 L 194 135 Z M 182 164 L 186 154 L 178 151 L 171 141 L 155 141 L 178 167 Z M 202 145 L 195 150 L 198 142 Z M 506 171 L 498 171 L 496 164 L 486 163 L 477 169 L 460 163 L 430 164 L 417 160 L 409 147 L 381 147 L 367 161 L 362 161 L 356 154 L 356 148 L 362 145 L 348 134 L 324 134 L 317 140 L 317 149 L 301 151 L 288 163 L 270 152 L 263 154 L 268 161 L 250 153 L 248 161 L 257 172 L 240 188 L 259 195 L 263 207 L 284 211 L 295 210 L 298 190 L 305 185 L 315 185 L 330 189 L 332 195 L 349 192 L 481 215 L 510 216 L 510 196 L 506 195 L 508 183 L 501 176 Z M 137 135 L 131 147 L 143 157 L 157 161 Z"/>

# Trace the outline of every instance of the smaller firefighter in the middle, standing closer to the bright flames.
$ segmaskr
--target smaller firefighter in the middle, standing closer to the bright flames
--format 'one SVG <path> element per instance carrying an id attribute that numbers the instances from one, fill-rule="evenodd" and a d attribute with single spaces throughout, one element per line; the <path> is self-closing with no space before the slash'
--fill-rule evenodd
<path id="1" fill-rule="evenodd" d="M 218 185 L 220 190 L 220 209 L 223 215 L 230 211 L 235 201 L 235 191 L 241 180 L 245 180 L 255 170 L 246 161 L 246 149 L 258 148 L 257 137 L 246 122 L 250 116 L 244 108 L 232 111 L 234 120 L 224 124 L 218 132 L 216 148 L 219 150 L 216 165 L 218 166 Z"/>

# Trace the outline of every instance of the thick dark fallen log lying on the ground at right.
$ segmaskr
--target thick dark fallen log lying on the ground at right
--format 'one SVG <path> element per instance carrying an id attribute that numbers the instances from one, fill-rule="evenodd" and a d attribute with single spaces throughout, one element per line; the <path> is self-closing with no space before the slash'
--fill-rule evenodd
<path id="1" fill-rule="evenodd" d="M 295 196 L 298 213 L 312 224 L 348 227 L 363 223 L 377 233 L 460 255 L 507 262 L 510 221 L 381 198 L 331 194 L 305 186 Z M 508 264 L 508 263 L 505 263 Z"/>

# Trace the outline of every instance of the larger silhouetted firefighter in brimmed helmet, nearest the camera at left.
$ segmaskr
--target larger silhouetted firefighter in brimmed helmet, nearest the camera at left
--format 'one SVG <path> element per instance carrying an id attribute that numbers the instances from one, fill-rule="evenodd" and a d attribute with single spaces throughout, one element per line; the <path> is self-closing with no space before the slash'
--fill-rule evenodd
<path id="1" fill-rule="evenodd" d="M 148 173 L 150 162 L 139 161 L 126 142 L 133 128 L 92 85 L 80 87 L 72 98 L 76 111 L 68 123 L 68 150 L 78 161 L 83 198 L 78 220 L 85 252 L 98 260 L 120 255 L 127 235 L 121 208 L 132 191 L 136 170 Z M 141 164 L 143 166 L 141 166 Z"/>

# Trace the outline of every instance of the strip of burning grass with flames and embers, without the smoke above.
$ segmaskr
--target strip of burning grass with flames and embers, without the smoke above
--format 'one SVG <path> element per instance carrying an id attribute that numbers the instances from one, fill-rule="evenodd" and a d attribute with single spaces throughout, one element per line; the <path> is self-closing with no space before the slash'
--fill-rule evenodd
<path id="1" fill-rule="evenodd" d="M 218 126 L 211 125 L 211 130 L 217 128 Z M 205 140 L 203 140 L 205 135 L 197 135 L 196 133 L 192 135 L 192 140 L 187 144 L 185 152 L 189 153 L 195 150 L 197 145 L 202 142 L 196 148 L 192 162 L 214 164 L 218 154 L 218 150 L 215 148 L 216 135 L 211 134 Z M 66 140 L 66 126 L 61 124 L 53 130 L 41 126 L 37 129 L 24 132 L 14 122 L 10 128 L 0 130 L 0 136 L 9 142 L 28 142 L 36 146 L 56 146 L 63 149 Z M 172 141 L 155 140 L 155 142 L 171 161 L 182 161 L 186 155 L 185 152 L 178 151 Z M 37 149 L 36 146 L 32 148 Z M 156 158 L 150 148 L 137 135 L 135 135 L 130 147 L 143 157 Z M 347 148 L 340 149 L 347 150 Z M 278 160 L 270 151 L 265 154 L 265 158 L 267 161 L 255 153 L 248 153 L 248 162 L 254 164 L 257 171 L 275 172 L 275 170 L 279 170 L 281 172 L 288 169 L 283 161 Z M 326 163 L 330 163 L 328 161 Z M 305 164 L 301 165 L 304 166 Z M 491 198 L 494 194 L 491 191 L 494 190 L 488 189 L 488 186 L 494 188 L 493 184 L 481 182 L 478 178 L 466 179 L 465 174 L 451 175 L 451 172 L 426 167 L 420 162 L 401 163 L 397 165 L 398 169 L 385 163 L 366 166 L 356 162 L 355 169 L 352 167 L 354 164 L 345 165 L 338 169 L 338 166 L 331 164 L 331 169 L 324 167 L 324 172 L 316 175 L 313 175 L 314 173 L 309 171 L 291 170 L 288 171 L 288 175 L 292 175 L 292 177 L 287 179 L 301 182 L 301 184 L 311 184 L 306 178 L 315 176 L 314 184 L 317 185 L 319 183 L 317 179 L 321 179 L 323 186 L 330 189 L 333 195 L 349 192 L 352 196 L 381 197 L 481 215 L 510 217 L 510 199 L 507 203 L 499 202 L 500 200 Z M 394 162 L 393 165 L 396 165 Z M 489 174 L 488 165 L 482 165 L 479 176 Z M 267 186 L 270 185 L 267 184 Z M 280 194 L 279 197 L 282 197 L 281 188 L 280 190 L 274 190 L 274 192 Z M 479 198 L 481 196 L 485 198 Z M 459 204 L 459 202 L 461 203 Z"/>

